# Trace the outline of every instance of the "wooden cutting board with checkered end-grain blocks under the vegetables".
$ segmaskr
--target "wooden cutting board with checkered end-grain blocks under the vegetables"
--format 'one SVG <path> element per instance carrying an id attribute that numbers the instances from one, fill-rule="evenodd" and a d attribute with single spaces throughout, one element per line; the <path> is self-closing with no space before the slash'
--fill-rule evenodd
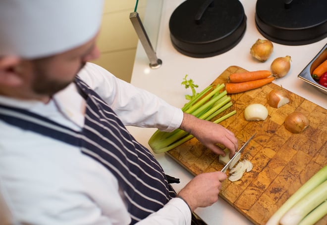
<path id="1" fill-rule="evenodd" d="M 246 70 L 228 67 L 213 84 L 226 83 L 228 76 Z M 220 197 L 256 225 L 264 225 L 272 214 L 309 178 L 327 165 L 327 110 L 287 91 L 291 102 L 275 109 L 267 104 L 267 94 L 281 87 L 269 84 L 256 90 L 230 94 L 233 106 L 223 113 L 236 110 L 236 115 L 220 124 L 236 135 L 239 146 L 257 132 L 241 155 L 250 160 L 253 170 L 241 180 L 224 180 Z M 265 121 L 246 121 L 244 109 L 261 103 L 269 111 Z M 286 116 L 300 111 L 308 116 L 310 125 L 302 134 L 292 134 L 284 127 Z M 221 115 L 218 115 L 220 117 Z M 166 152 L 193 175 L 220 171 L 218 155 L 196 138 Z M 227 171 L 228 176 L 228 171 Z M 326 224 L 327 217 L 323 223 Z"/>

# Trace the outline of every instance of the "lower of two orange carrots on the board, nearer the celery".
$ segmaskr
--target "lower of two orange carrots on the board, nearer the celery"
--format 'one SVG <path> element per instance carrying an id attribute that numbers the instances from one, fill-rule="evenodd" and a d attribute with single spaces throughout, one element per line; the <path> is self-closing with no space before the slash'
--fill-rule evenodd
<path id="1" fill-rule="evenodd" d="M 274 77 L 269 77 L 269 78 L 255 80 L 255 81 L 246 81 L 240 83 L 226 83 L 225 89 L 229 94 L 239 93 L 247 90 L 260 88 L 264 85 L 271 83 L 274 79 L 275 79 Z"/>

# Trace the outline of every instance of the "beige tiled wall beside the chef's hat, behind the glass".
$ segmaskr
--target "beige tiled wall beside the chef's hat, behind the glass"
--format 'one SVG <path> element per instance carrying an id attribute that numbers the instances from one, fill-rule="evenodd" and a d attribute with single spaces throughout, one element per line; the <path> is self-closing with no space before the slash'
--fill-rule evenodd
<path id="1" fill-rule="evenodd" d="M 135 2 L 136 0 L 105 0 L 98 38 L 101 56 L 93 61 L 127 82 L 131 79 L 138 42 L 129 19 L 129 14 L 134 11 Z M 141 4 L 144 3 L 142 0 Z"/>

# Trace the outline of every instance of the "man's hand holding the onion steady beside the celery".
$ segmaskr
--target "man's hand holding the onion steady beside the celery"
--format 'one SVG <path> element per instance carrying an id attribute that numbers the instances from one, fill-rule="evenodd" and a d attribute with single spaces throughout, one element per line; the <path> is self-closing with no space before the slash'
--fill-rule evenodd
<path id="1" fill-rule="evenodd" d="M 218 147 L 218 143 L 230 150 L 229 158 L 233 157 L 238 149 L 237 138 L 228 129 L 210 121 L 201 120 L 193 115 L 184 113 L 180 129 L 195 136 L 206 147 L 219 155 L 225 155 L 223 149 Z"/>

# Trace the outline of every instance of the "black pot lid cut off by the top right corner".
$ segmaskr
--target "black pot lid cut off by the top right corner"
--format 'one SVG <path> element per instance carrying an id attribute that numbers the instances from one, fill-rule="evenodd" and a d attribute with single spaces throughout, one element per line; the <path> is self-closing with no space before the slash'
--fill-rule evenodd
<path id="1" fill-rule="evenodd" d="M 272 42 L 311 44 L 327 37 L 327 0 L 257 0 L 255 20 Z"/>

